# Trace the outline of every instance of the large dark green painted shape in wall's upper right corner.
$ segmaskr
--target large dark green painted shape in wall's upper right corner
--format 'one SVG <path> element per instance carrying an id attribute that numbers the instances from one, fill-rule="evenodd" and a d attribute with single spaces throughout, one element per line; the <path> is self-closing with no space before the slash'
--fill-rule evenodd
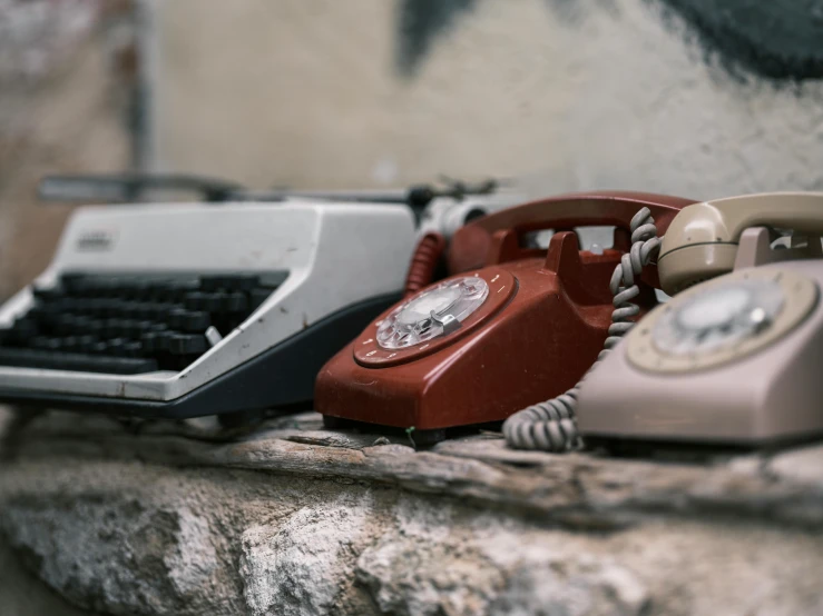
<path id="1" fill-rule="evenodd" d="M 678 13 L 735 77 L 823 78 L 823 0 L 647 0 Z"/>

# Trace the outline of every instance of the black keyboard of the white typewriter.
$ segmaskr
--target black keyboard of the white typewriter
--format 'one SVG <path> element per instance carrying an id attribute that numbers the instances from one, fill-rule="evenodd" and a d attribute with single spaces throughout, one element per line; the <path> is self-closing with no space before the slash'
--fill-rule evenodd
<path id="1" fill-rule="evenodd" d="M 182 370 L 242 324 L 287 272 L 63 274 L 0 329 L 0 366 L 135 375 Z"/>

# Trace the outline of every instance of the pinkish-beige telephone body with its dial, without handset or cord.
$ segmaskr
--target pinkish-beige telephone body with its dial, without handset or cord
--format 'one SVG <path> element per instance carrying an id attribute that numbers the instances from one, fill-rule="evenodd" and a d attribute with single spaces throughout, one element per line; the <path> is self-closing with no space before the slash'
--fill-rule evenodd
<path id="1" fill-rule="evenodd" d="M 746 229 L 731 274 L 644 318 L 580 388 L 588 445 L 754 447 L 823 435 L 823 259 L 817 236 L 771 247 Z"/>

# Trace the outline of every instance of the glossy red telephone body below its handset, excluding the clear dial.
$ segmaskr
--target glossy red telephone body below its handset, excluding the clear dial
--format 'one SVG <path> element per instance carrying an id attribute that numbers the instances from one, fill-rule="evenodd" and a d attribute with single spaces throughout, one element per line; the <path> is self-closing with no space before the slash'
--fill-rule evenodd
<path id="1" fill-rule="evenodd" d="M 384 312 L 321 370 L 316 408 L 419 434 L 501 421 L 562 394 L 602 348 L 619 260 L 617 250 L 580 252 L 574 232 L 556 234 L 545 260 L 470 272 L 489 282 L 484 305 L 455 332 L 402 351 L 375 342 Z M 638 299 L 650 307 L 654 292 L 645 291 Z"/>

